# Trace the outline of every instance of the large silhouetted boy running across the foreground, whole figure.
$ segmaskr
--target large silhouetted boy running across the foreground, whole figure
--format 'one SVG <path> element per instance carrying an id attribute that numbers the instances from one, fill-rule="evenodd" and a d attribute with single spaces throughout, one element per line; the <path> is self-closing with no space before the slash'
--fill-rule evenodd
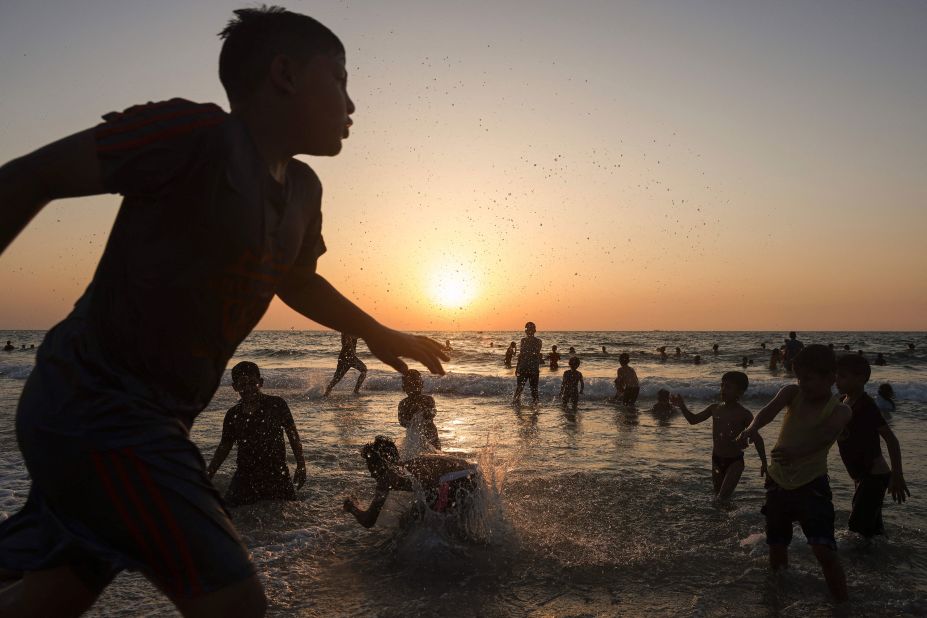
<path id="1" fill-rule="evenodd" d="M 274 295 L 398 371 L 440 344 L 391 330 L 319 276 L 322 186 L 293 157 L 348 136 L 341 41 L 241 9 L 220 36 L 231 112 L 171 99 L 107 114 L 0 168 L 0 251 L 48 202 L 121 193 L 93 281 L 45 336 L 16 429 L 29 498 L 0 524 L 11 615 L 79 614 L 134 569 L 186 615 L 256 616 L 264 592 L 189 431 Z M 49 594 L 54 591 L 54 594 Z"/>

